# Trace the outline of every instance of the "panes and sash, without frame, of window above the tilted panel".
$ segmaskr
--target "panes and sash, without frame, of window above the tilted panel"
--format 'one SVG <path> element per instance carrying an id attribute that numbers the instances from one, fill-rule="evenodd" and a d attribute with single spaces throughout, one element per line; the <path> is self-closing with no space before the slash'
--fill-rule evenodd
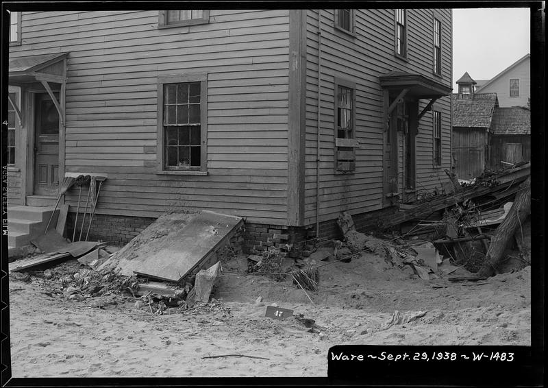
<path id="1" fill-rule="evenodd" d="M 164 168 L 201 167 L 201 83 L 164 84 Z"/>

